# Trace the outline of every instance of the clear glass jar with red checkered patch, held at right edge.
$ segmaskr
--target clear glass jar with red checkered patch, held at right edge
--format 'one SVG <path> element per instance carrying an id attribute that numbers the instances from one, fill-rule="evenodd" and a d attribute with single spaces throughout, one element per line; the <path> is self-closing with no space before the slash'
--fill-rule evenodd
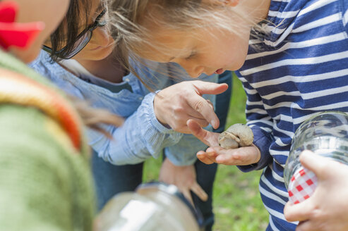
<path id="1" fill-rule="evenodd" d="M 311 196 L 316 187 L 314 173 L 299 162 L 304 150 L 348 164 L 348 114 L 340 111 L 318 113 L 296 130 L 284 167 L 285 186 L 294 204 Z"/>

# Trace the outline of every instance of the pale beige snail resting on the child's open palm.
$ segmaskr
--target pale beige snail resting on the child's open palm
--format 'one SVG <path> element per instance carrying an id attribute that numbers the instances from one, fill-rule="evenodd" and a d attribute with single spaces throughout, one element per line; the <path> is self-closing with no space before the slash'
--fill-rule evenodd
<path id="1" fill-rule="evenodd" d="M 219 145 L 224 149 L 236 149 L 253 144 L 253 131 L 247 125 L 236 123 L 219 135 Z"/>

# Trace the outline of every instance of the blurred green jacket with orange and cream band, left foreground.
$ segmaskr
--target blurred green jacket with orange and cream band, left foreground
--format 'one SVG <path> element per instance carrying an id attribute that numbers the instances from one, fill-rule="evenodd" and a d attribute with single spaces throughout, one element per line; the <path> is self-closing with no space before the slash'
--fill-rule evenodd
<path id="1" fill-rule="evenodd" d="M 0 230 L 92 230 L 82 133 L 61 92 L 0 51 Z"/>

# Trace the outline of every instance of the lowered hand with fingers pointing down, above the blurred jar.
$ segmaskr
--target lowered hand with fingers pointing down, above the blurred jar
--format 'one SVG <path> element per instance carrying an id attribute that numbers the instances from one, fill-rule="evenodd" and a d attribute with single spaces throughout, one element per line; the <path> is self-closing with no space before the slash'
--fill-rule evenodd
<path id="1" fill-rule="evenodd" d="M 194 166 L 174 166 L 174 164 L 166 158 L 160 170 L 160 181 L 170 185 L 176 185 L 191 204 L 193 204 L 191 191 L 202 201 L 208 199 L 208 195 L 196 181 L 196 170 Z"/>

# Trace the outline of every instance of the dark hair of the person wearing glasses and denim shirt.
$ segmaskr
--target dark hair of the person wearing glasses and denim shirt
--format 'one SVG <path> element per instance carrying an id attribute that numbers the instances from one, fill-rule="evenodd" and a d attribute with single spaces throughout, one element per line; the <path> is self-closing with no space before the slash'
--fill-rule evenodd
<path id="1" fill-rule="evenodd" d="M 80 23 L 88 24 L 88 13 L 90 12 L 90 0 L 71 0 L 66 13 L 66 18 L 59 27 L 50 36 L 53 61 L 58 61 L 59 57 L 55 56 L 56 51 L 59 51 L 63 46 L 66 47 L 59 56 L 67 56 L 73 50 L 73 46 L 78 37 Z"/>

